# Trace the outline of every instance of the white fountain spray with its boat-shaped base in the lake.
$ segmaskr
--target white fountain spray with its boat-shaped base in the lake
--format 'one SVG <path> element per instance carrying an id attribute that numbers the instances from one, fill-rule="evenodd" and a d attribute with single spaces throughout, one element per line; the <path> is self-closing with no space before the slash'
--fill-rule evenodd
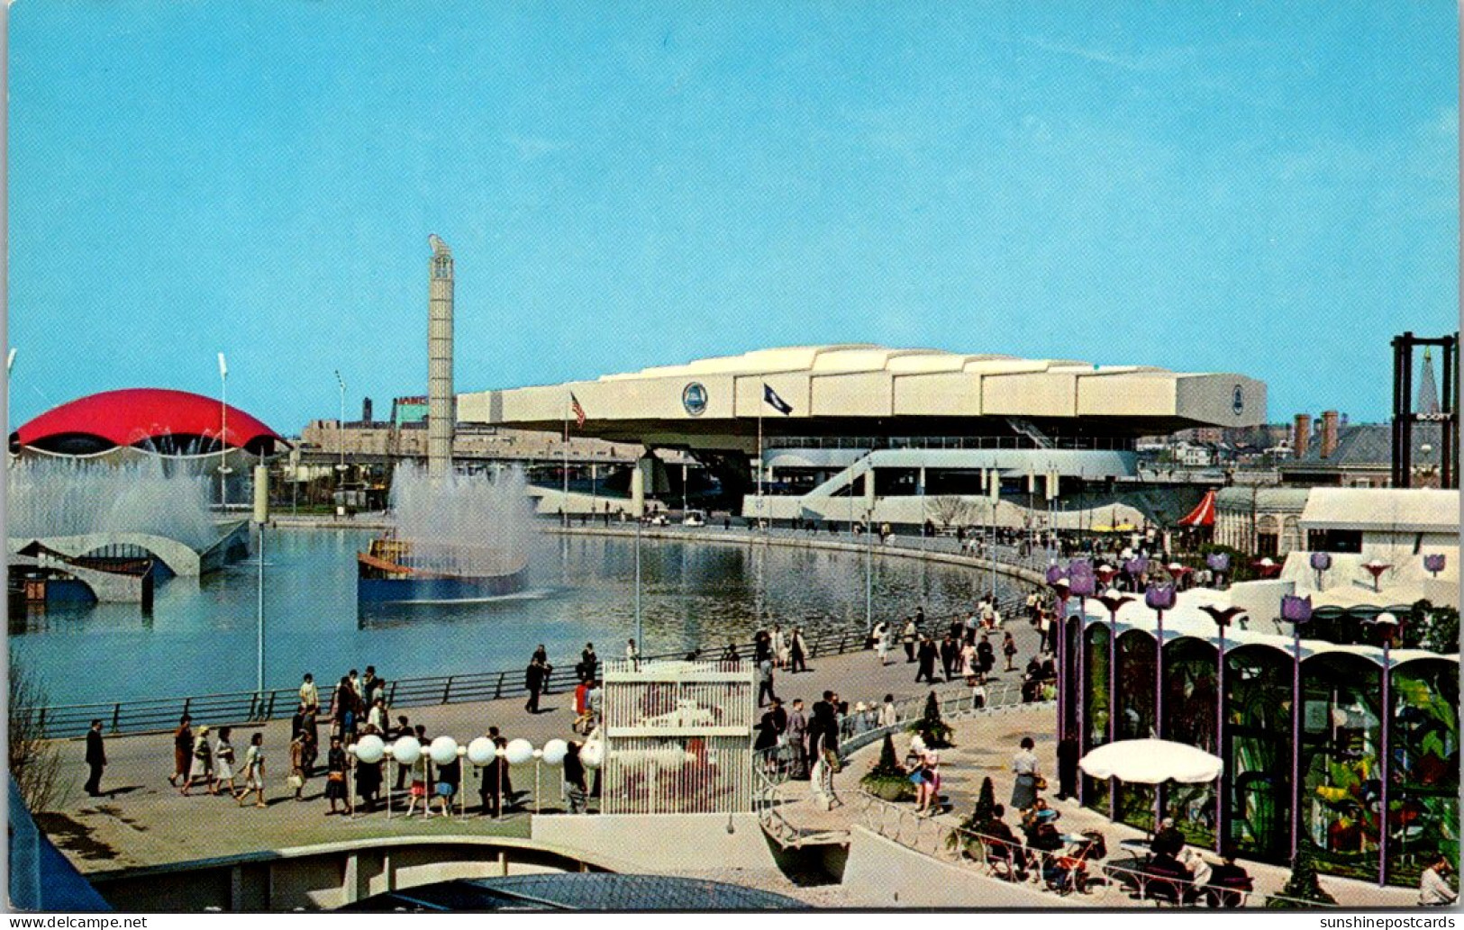
<path id="1" fill-rule="evenodd" d="M 518 469 L 436 477 L 400 464 L 392 529 L 357 553 L 357 605 L 477 601 L 529 583 L 533 515 Z"/>

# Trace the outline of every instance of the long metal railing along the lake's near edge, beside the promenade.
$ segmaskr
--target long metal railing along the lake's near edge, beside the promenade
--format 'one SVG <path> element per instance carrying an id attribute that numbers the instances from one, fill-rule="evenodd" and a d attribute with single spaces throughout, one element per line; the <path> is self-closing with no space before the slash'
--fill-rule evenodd
<path id="1" fill-rule="evenodd" d="M 1016 602 L 1015 600 L 1012 601 Z M 868 632 L 862 627 L 845 627 L 804 633 L 807 658 L 861 652 L 867 646 Z M 701 651 L 703 659 L 714 661 L 725 646 Z M 736 643 L 744 659 L 754 655 L 748 640 Z M 660 652 L 641 657 L 641 661 L 684 659 L 688 651 Z M 546 680 L 545 695 L 572 690 L 580 681 L 574 664 L 553 665 Z M 329 711 L 329 683 L 321 683 L 322 715 Z M 448 703 L 471 703 L 498 700 L 501 698 L 524 698 L 529 687 L 523 670 L 483 671 L 455 676 L 427 676 L 398 678 L 386 683 L 385 698 L 389 709 L 425 708 Z M 299 708 L 299 686 L 269 689 L 265 692 L 223 692 L 212 695 L 190 695 L 179 698 L 146 698 L 138 700 L 116 700 L 98 703 L 51 705 L 31 709 L 31 722 L 42 738 L 79 737 L 91 727 L 92 719 L 102 721 L 108 736 L 135 733 L 163 733 L 173 730 L 184 714 L 193 724 L 228 725 L 258 724 L 287 718 Z"/>

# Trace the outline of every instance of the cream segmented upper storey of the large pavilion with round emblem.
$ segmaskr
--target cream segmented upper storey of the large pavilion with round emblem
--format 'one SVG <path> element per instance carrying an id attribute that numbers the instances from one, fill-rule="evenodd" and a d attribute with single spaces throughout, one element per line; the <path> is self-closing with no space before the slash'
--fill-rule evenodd
<path id="1" fill-rule="evenodd" d="M 792 409 L 764 401 L 764 386 Z M 458 395 L 458 420 L 660 446 L 769 437 L 1026 436 L 1054 445 L 1265 423 L 1266 386 L 1233 373 L 959 354 L 870 344 L 772 348 L 564 385 Z M 1070 446 L 1072 447 L 1072 446 Z"/>

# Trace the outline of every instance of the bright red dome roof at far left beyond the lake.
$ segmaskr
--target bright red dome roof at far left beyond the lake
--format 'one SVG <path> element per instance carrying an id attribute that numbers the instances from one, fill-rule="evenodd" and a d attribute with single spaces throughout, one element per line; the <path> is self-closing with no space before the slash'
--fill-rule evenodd
<path id="1" fill-rule="evenodd" d="M 16 430 L 10 445 L 45 447 L 67 440 L 91 440 L 97 446 L 145 446 L 161 439 L 171 440 L 170 445 L 193 440 L 217 443 L 220 421 L 217 398 L 158 388 L 104 390 L 45 411 Z M 268 450 L 280 436 L 244 411 L 230 407 L 224 440 L 255 452 L 261 446 Z"/>

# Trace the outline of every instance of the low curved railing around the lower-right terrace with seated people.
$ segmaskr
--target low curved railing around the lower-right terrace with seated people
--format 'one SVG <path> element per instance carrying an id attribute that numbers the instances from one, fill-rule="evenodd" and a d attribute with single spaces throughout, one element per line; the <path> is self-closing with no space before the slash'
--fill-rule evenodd
<path id="1" fill-rule="evenodd" d="M 1022 883 L 1054 896 L 1078 895 L 1083 904 L 1129 907 L 1127 902 L 1132 901 L 1155 907 L 1243 908 L 1268 907 L 1268 902 L 1280 901 L 1296 908 L 1335 907 L 1158 874 L 1136 860 L 1124 860 L 1133 864 L 1120 866 L 1104 861 L 1107 850 L 1104 855 L 1091 855 L 1083 844 L 1072 841 L 1066 841 L 1061 850 L 1035 850 L 1020 838 L 1013 841 L 924 817 L 867 791 L 859 791 L 856 800 L 861 823 L 892 842 L 990 879 Z"/>

